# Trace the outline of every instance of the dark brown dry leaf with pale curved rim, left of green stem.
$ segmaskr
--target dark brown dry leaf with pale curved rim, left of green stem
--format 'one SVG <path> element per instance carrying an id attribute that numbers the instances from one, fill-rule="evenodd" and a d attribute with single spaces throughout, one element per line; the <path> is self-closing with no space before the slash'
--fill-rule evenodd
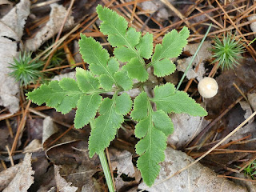
<path id="1" fill-rule="evenodd" d="M 69 133 L 70 134 L 70 133 Z M 70 136 L 64 136 L 69 138 Z M 74 136 L 73 136 L 74 139 Z M 89 158 L 88 143 L 81 141 L 59 143 L 52 146 L 46 153 L 51 162 L 59 165 L 59 173 L 65 175 L 66 182 L 78 187 L 78 190 L 98 191 L 98 181 L 93 175 L 98 171 L 97 159 Z"/>

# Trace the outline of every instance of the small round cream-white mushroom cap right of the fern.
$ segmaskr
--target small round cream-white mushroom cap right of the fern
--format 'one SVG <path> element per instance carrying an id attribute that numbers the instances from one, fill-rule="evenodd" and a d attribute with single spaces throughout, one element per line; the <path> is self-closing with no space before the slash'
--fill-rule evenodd
<path id="1" fill-rule="evenodd" d="M 218 92 L 218 83 L 214 78 L 203 78 L 198 83 L 198 91 L 203 98 L 212 98 Z"/>

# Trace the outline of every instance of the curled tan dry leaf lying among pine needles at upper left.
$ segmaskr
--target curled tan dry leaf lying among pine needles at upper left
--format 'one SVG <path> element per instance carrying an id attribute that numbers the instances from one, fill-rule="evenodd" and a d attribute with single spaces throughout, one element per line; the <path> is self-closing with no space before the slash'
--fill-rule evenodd
<path id="1" fill-rule="evenodd" d="M 35 51 L 38 50 L 40 46 L 55 34 L 58 34 L 64 18 L 66 17 L 67 10 L 64 6 L 58 5 L 57 3 L 50 5 L 50 20 L 46 23 L 46 26 L 42 27 L 41 30 L 35 35 L 34 38 L 28 39 L 26 41 L 26 49 Z M 74 18 L 69 15 L 66 19 L 65 26 L 63 30 L 68 30 L 74 26 Z"/>

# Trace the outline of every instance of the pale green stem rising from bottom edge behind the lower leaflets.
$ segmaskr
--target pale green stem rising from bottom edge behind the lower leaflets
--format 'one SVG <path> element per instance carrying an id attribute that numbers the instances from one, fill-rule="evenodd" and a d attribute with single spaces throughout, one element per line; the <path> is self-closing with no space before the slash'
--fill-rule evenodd
<path id="1" fill-rule="evenodd" d="M 92 119 L 90 121 L 90 129 L 93 130 L 94 128 L 95 128 L 95 120 Z M 104 150 L 101 150 L 98 153 L 98 158 L 101 161 L 102 170 L 104 172 L 104 175 L 105 175 L 105 178 L 106 178 L 106 184 L 109 188 L 109 191 L 114 192 L 114 185 L 113 185 L 112 177 L 111 177 L 111 174 L 110 174 L 110 167 L 109 167 L 109 164 L 106 161 L 106 154 L 104 153 Z"/>

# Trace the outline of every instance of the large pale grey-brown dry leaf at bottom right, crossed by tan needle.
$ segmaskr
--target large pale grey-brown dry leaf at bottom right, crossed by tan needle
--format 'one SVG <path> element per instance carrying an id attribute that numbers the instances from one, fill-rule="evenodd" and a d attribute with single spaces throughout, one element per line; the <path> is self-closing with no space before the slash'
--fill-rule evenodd
<path id="1" fill-rule="evenodd" d="M 174 150 L 170 147 L 166 149 L 166 160 L 161 163 L 161 170 L 154 183 L 161 182 L 163 179 L 174 174 L 183 167 L 188 166 L 194 159 L 182 151 Z M 196 163 L 182 173 L 175 175 L 165 182 L 148 188 L 144 182 L 139 186 L 141 190 L 150 192 L 246 192 L 246 187 L 237 186 L 226 178 L 219 178 L 213 170 Z"/>

